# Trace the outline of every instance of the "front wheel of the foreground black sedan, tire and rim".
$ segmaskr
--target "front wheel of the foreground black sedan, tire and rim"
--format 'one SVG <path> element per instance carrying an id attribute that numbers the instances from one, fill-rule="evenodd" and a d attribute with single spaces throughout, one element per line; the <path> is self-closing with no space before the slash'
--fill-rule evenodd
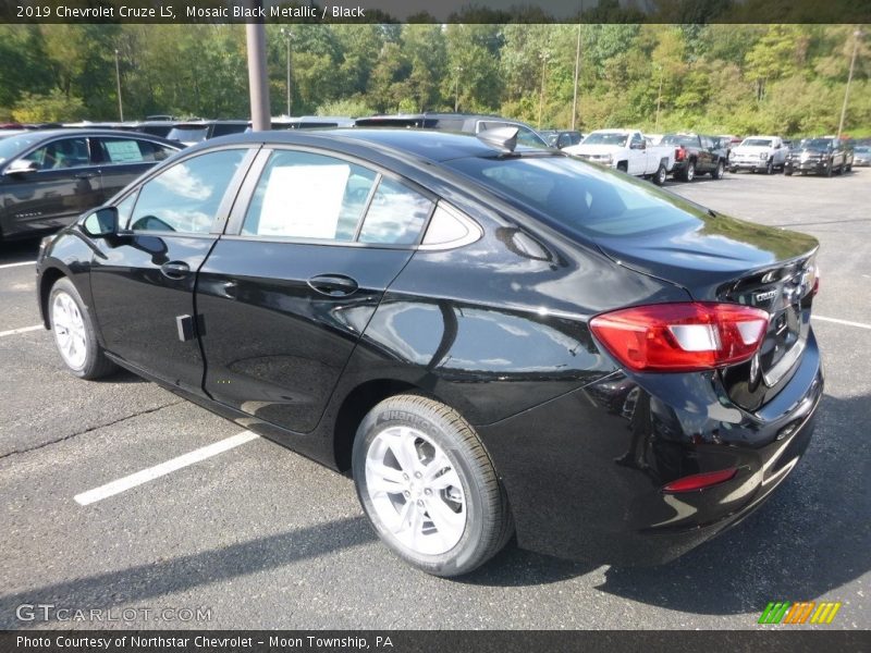
<path id="1" fill-rule="evenodd" d="M 75 328 L 63 326 L 64 318 L 59 311 L 63 311 L 71 322 L 75 321 Z M 54 345 L 71 373 L 81 379 L 101 379 L 118 370 L 118 366 L 106 357 L 103 348 L 97 342 L 94 320 L 82 296 L 73 282 L 65 276 L 51 286 L 48 295 L 48 319 L 54 335 Z M 79 329 L 79 320 L 82 333 L 76 336 L 74 332 Z M 73 342 L 74 355 L 70 347 L 64 352 L 63 342 Z"/>

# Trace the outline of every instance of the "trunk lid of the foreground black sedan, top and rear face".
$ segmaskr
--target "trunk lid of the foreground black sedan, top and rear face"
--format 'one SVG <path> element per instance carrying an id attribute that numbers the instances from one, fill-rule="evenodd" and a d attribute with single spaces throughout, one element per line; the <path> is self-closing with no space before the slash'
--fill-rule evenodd
<path id="1" fill-rule="evenodd" d="M 713 212 L 700 222 L 633 237 L 594 237 L 622 266 L 684 287 L 700 301 L 753 306 L 771 316 L 748 362 L 722 370 L 729 396 L 756 409 L 788 381 L 810 328 L 818 242 Z"/>

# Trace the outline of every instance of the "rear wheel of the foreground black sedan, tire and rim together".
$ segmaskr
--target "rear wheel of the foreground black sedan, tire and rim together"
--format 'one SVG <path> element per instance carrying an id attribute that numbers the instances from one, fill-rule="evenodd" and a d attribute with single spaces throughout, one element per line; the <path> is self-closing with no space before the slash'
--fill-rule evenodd
<path id="1" fill-rule="evenodd" d="M 391 441 L 396 442 L 397 446 L 402 443 L 413 447 L 410 452 L 416 456 L 416 460 L 410 467 L 421 469 L 422 478 L 419 472 L 403 473 L 403 470 L 410 472 L 408 458 L 405 458 L 405 465 L 400 463 L 403 456 L 393 456 L 395 449 L 392 445 L 385 444 Z M 408 444 L 409 442 L 412 444 Z M 409 452 L 402 447 L 400 451 L 404 452 L 404 455 Z M 428 455 L 431 458 L 428 458 Z M 429 467 L 434 465 L 437 459 L 446 459 L 443 469 Z M 427 460 L 429 461 L 425 463 Z M 397 478 L 395 481 L 397 484 L 390 485 L 396 488 L 397 492 L 373 490 L 376 496 L 373 498 L 369 492 L 368 475 L 376 473 L 369 471 L 370 467 L 377 469 L 380 465 L 383 465 L 381 469 L 389 469 L 391 476 L 400 475 L 402 478 Z M 418 395 L 397 395 L 378 404 L 357 429 L 352 468 L 360 505 L 378 537 L 396 555 L 427 574 L 442 577 L 468 574 L 503 549 L 514 533 L 507 496 L 490 456 L 471 426 L 444 404 Z M 452 484 L 433 493 L 426 486 L 427 478 L 430 476 L 428 470 L 432 469 L 437 472 L 433 483 L 438 483 L 439 479 L 446 479 L 450 473 L 453 475 L 451 478 L 459 480 L 459 492 Z M 375 481 L 377 478 L 373 476 L 371 480 Z M 383 484 L 385 479 L 387 476 L 382 477 L 380 482 Z M 459 497 L 459 501 L 454 504 L 453 497 Z M 433 510 L 434 504 L 440 508 Z M 438 546 L 440 541 L 436 539 L 427 544 L 421 543 L 416 550 L 397 535 L 402 531 L 403 537 L 416 540 L 414 534 L 408 535 L 408 531 L 415 530 L 418 532 L 417 539 L 431 538 L 434 534 L 441 537 L 442 533 L 451 535 L 450 529 L 442 531 L 437 525 L 443 517 L 439 520 L 430 517 L 430 513 L 444 515 L 444 506 L 450 506 L 454 510 L 455 515 L 452 517 L 465 515 L 462 534 L 454 534 L 458 540 L 454 544 L 449 544 L 450 547 L 445 551 L 430 553 L 424 551 L 431 544 Z M 395 510 L 395 514 L 391 510 Z M 410 513 L 415 513 L 416 516 L 410 516 Z M 401 525 L 398 530 L 389 526 L 392 518 L 398 518 Z M 412 520 L 408 529 L 405 528 L 406 519 Z M 416 528 L 417 520 L 419 526 Z M 459 528 L 450 526 L 454 528 L 455 533 L 459 532 Z"/>

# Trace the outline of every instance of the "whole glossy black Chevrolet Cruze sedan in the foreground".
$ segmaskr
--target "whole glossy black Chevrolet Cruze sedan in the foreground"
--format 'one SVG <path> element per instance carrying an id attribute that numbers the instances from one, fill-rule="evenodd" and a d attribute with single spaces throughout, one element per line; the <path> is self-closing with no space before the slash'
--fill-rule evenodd
<path id="1" fill-rule="evenodd" d="M 516 137 L 195 146 L 42 242 L 45 324 L 77 377 L 124 367 L 349 470 L 430 574 L 513 533 L 668 560 L 808 445 L 818 243 Z"/>

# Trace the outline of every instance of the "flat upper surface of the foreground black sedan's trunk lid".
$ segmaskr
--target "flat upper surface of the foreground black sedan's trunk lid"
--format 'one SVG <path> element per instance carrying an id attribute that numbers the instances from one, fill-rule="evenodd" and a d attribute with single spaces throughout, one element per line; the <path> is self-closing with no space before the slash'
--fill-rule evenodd
<path id="1" fill-rule="evenodd" d="M 777 268 L 817 249 L 815 238 L 782 229 L 694 211 L 698 221 L 637 236 L 594 236 L 618 263 L 683 286 L 697 299 L 713 299 L 724 284 L 751 270 Z"/>

